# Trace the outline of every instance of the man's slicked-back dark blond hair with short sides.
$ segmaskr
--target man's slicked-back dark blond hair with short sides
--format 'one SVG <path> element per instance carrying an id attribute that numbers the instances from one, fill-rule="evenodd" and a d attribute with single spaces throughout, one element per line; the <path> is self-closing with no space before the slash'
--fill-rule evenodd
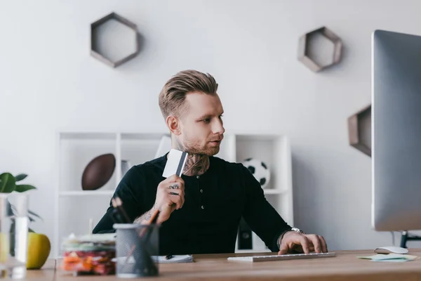
<path id="1" fill-rule="evenodd" d="M 218 84 L 210 74 L 196 70 L 184 70 L 175 74 L 159 93 L 159 107 L 164 118 L 168 115 L 180 116 L 186 110 L 187 93 L 200 92 L 216 95 Z"/>

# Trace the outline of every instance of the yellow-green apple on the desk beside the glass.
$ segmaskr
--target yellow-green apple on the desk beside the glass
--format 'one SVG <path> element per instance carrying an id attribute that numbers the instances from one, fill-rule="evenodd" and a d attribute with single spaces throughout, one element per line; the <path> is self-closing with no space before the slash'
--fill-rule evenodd
<path id="1" fill-rule="evenodd" d="M 41 233 L 28 233 L 27 269 L 40 269 L 50 254 L 51 243 Z"/>

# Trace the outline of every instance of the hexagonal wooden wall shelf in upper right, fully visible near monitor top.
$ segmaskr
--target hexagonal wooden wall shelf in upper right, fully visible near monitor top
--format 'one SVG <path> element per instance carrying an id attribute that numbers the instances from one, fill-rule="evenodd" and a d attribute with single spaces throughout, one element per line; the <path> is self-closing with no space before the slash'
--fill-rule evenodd
<path id="1" fill-rule="evenodd" d="M 325 48 L 324 50 L 313 49 L 314 45 L 316 45 L 313 44 L 315 43 L 313 41 L 318 41 L 319 39 L 326 41 L 321 46 L 321 48 Z M 320 27 L 302 35 L 298 45 L 298 60 L 314 72 L 319 72 L 326 67 L 339 63 L 342 57 L 342 40 L 327 27 Z M 316 58 L 316 54 L 322 51 L 328 51 L 325 61 L 320 61 Z"/>

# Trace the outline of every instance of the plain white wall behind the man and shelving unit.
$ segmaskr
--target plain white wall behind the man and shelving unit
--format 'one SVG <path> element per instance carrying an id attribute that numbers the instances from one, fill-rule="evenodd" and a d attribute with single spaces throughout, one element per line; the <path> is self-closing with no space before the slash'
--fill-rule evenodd
<path id="1" fill-rule="evenodd" d="M 31 208 L 53 237 L 55 132 L 164 129 L 157 104 L 179 70 L 220 84 L 226 129 L 276 131 L 293 144 L 295 222 L 329 249 L 391 244 L 370 228 L 370 158 L 347 141 L 347 117 L 370 103 L 370 34 L 421 34 L 417 0 L 74 0 L 0 2 L 0 171 L 25 172 Z M 89 55 L 89 25 L 115 11 L 145 37 L 112 69 Z M 298 37 L 321 25 L 343 61 L 315 74 Z M 413 243 L 412 245 L 414 245 Z"/>

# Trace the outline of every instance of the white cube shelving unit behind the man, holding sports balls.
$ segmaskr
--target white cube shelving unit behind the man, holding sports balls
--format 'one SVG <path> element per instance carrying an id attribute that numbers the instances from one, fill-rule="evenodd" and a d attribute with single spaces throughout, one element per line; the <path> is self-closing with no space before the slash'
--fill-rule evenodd
<path id="1" fill-rule="evenodd" d="M 165 132 L 60 132 L 57 140 L 58 188 L 55 192 L 55 233 L 53 254 L 60 256 L 60 244 L 70 233 L 88 233 L 89 219 L 94 226 L 105 214 L 116 186 L 121 181 L 121 160 L 131 166 L 154 159 Z M 165 150 L 165 148 L 163 148 Z M 169 148 L 168 148 L 169 150 Z M 98 190 L 82 190 L 81 176 L 88 162 L 98 155 L 113 153 L 116 168 L 112 178 Z M 226 133 L 221 150 L 215 155 L 229 162 L 253 157 L 265 162 L 271 171 L 267 200 L 293 225 L 293 190 L 290 143 L 286 136 Z M 237 250 L 240 251 L 240 250 Z M 253 250 L 267 251 L 253 233 Z"/>

